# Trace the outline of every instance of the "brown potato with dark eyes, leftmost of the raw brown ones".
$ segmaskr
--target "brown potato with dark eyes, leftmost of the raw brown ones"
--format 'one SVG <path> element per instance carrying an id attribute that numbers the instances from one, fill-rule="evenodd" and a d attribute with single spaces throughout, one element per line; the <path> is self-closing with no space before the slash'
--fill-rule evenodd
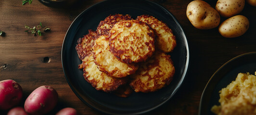
<path id="1" fill-rule="evenodd" d="M 194 0 L 187 7 L 187 17 L 198 29 L 212 29 L 218 26 L 218 12 L 203 0 Z"/>

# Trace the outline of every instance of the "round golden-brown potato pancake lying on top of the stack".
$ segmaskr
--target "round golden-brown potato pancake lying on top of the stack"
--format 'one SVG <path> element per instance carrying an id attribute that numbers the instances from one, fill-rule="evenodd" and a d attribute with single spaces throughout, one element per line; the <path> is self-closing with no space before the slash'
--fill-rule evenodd
<path id="1" fill-rule="evenodd" d="M 146 61 L 154 53 L 154 37 L 154 31 L 147 23 L 120 21 L 109 32 L 110 51 L 124 63 Z"/>

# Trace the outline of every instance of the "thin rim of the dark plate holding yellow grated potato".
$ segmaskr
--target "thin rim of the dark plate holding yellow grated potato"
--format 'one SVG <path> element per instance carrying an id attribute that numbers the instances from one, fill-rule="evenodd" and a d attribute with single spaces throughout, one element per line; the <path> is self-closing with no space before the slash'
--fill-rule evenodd
<path id="1" fill-rule="evenodd" d="M 201 95 L 201 98 L 200 98 L 200 103 L 199 103 L 199 111 L 198 111 L 198 115 L 202 115 L 202 104 L 203 104 L 203 100 L 204 100 L 204 98 L 205 98 L 205 92 L 207 92 L 207 89 L 210 87 L 209 86 L 209 84 L 211 83 L 211 82 L 213 82 L 213 80 L 214 80 L 214 76 L 216 75 L 216 74 L 218 74 L 219 73 L 219 71 L 221 70 L 221 69 L 223 69 L 223 68 L 225 68 L 226 66 L 228 66 L 230 63 L 232 63 L 232 62 L 234 62 L 234 61 L 236 61 L 236 59 L 239 59 L 239 58 L 242 58 L 242 57 L 246 57 L 246 56 L 250 56 L 250 55 L 255 55 L 256 54 L 256 52 L 247 52 L 247 53 L 243 53 L 243 54 L 241 54 L 241 55 L 238 55 L 238 56 L 236 56 L 236 57 L 234 57 L 234 58 L 231 58 L 229 61 L 227 61 L 227 62 L 225 62 L 221 67 L 219 67 L 215 72 L 214 72 L 214 74 L 211 76 L 211 78 L 209 79 L 209 81 L 206 83 L 206 85 L 205 85 L 205 88 L 204 88 L 204 91 L 202 92 L 202 95 Z M 221 77 L 222 78 L 222 77 Z M 213 91 L 211 91 L 211 92 L 213 92 Z"/>

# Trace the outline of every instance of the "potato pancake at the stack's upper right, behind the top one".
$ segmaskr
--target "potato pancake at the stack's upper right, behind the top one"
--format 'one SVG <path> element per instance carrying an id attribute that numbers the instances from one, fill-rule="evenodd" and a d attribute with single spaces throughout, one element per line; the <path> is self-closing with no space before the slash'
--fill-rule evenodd
<path id="1" fill-rule="evenodd" d="M 148 23 L 156 35 L 155 48 L 164 52 L 171 52 L 176 47 L 176 37 L 166 23 L 150 15 L 141 15 L 137 20 Z"/>

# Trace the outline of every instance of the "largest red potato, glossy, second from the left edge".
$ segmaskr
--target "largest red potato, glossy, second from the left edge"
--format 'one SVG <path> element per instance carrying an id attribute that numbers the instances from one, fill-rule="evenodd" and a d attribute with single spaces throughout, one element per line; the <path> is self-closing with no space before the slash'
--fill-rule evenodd
<path id="1" fill-rule="evenodd" d="M 32 115 L 50 112 L 58 102 L 58 93 L 50 86 L 40 86 L 26 98 L 25 111 Z"/>

